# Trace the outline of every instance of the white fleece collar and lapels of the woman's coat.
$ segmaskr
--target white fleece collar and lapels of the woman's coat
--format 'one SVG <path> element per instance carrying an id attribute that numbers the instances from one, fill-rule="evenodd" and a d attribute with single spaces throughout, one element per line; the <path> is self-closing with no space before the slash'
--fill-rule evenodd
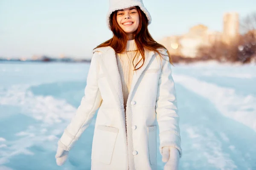
<path id="1" fill-rule="evenodd" d="M 103 54 L 102 55 L 103 64 L 105 65 L 106 71 L 108 72 L 108 78 L 111 80 L 112 82 L 111 84 L 114 86 L 113 94 L 118 95 L 119 105 L 121 105 L 123 108 L 124 99 L 123 99 L 123 93 L 122 93 L 122 82 L 121 82 L 121 77 L 120 77 L 118 66 L 117 66 L 116 53 L 114 49 L 110 46 L 96 48 L 93 50 L 93 53 L 95 51 L 100 51 Z M 153 55 L 154 55 L 154 51 L 145 50 L 144 64 L 140 69 L 138 69 L 137 71 L 134 71 L 133 79 L 131 82 L 130 93 L 128 95 L 127 102 L 130 101 L 131 96 L 134 92 L 134 88 L 138 82 L 138 79 L 140 78 L 141 74 L 147 67 Z M 143 61 L 140 61 L 138 65 L 141 65 L 142 63 Z"/>

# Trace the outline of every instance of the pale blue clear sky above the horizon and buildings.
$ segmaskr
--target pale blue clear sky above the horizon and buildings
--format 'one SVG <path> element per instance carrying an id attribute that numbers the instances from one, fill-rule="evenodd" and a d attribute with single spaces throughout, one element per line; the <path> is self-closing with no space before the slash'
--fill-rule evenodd
<path id="1" fill-rule="evenodd" d="M 225 12 L 240 18 L 256 12 L 256 0 L 144 0 L 155 40 L 184 34 L 204 24 L 222 31 Z M 96 45 L 111 38 L 108 0 L 0 0 L 0 57 L 60 55 L 90 58 Z"/>

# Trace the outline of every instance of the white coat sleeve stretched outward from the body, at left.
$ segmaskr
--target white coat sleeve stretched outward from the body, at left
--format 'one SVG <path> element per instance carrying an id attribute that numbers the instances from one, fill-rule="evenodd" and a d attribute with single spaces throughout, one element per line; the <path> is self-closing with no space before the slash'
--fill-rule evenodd
<path id="1" fill-rule="evenodd" d="M 73 147 L 83 131 L 90 125 L 96 110 L 101 105 L 102 97 L 97 82 L 97 57 L 99 57 L 98 53 L 93 53 L 87 76 L 87 84 L 84 89 L 84 96 L 81 99 L 75 116 L 58 140 L 58 146 L 62 147 L 64 150 L 69 151 Z"/>

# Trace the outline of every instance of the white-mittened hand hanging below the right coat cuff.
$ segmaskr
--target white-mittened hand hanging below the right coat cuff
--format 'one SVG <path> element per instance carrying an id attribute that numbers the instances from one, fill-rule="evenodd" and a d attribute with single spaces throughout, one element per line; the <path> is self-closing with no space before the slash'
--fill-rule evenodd
<path id="1" fill-rule="evenodd" d="M 167 162 L 164 166 L 164 170 L 178 170 L 180 153 L 175 147 L 166 146 L 163 147 L 162 161 Z"/>

